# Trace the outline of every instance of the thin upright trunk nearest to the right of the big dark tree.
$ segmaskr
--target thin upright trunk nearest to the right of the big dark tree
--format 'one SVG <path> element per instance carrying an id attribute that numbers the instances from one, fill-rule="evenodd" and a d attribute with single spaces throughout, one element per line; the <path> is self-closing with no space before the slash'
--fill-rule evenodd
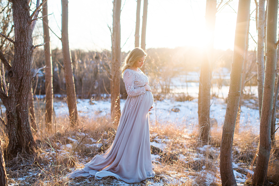
<path id="1" fill-rule="evenodd" d="M 52 85 L 52 58 L 50 49 L 50 37 L 49 37 L 49 20 L 47 17 L 47 2 L 44 3 L 42 8 L 43 17 L 43 30 L 44 30 L 44 59 L 45 59 L 45 89 L 46 89 L 46 112 L 45 121 L 47 130 L 51 130 L 52 126 L 52 111 L 53 111 L 53 85 Z"/>

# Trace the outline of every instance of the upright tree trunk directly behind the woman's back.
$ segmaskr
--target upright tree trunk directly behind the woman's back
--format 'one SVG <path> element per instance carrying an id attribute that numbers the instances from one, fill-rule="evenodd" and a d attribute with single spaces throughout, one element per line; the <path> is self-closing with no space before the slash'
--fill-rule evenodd
<path id="1" fill-rule="evenodd" d="M 111 80 L 110 80 L 110 94 L 111 94 L 111 119 L 115 124 L 118 124 L 120 119 L 120 71 L 121 66 L 121 29 L 120 29 L 120 12 L 121 12 L 121 0 L 114 1 L 113 10 L 113 46 L 112 46 L 112 61 L 111 61 Z"/>

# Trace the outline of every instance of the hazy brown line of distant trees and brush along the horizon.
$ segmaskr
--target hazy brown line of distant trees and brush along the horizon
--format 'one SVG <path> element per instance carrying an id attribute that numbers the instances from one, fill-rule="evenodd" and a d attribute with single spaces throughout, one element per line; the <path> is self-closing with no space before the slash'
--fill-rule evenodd
<path id="1" fill-rule="evenodd" d="M 171 78 L 185 74 L 188 71 L 200 71 L 202 52 L 196 48 L 177 47 L 175 49 L 159 48 L 147 49 L 146 57 L 146 74 L 149 76 L 150 84 L 153 86 L 155 93 L 169 93 L 171 86 Z M 233 51 L 214 51 L 214 63 L 212 71 L 218 68 L 227 68 L 230 71 Z M 122 59 L 127 53 L 122 52 Z M 71 59 L 73 65 L 74 82 L 76 95 L 78 98 L 99 99 L 101 96 L 109 96 L 110 94 L 110 68 L 111 68 L 111 52 L 104 50 L 83 51 L 71 50 Z M 53 61 L 53 93 L 66 94 L 64 64 L 61 49 L 52 50 Z M 256 83 L 256 76 L 251 78 L 251 74 L 256 72 L 255 67 L 255 52 L 250 51 L 249 55 L 249 73 L 246 79 L 249 79 L 249 85 Z M 44 67 L 44 51 L 36 49 L 33 53 L 33 72 L 41 67 Z M 220 77 L 221 78 L 221 77 Z M 191 80 L 189 80 L 191 81 Z M 218 80 L 220 86 L 226 85 L 222 79 Z M 251 83 L 252 82 L 252 83 Z M 213 80 L 212 83 L 216 83 Z M 42 69 L 33 80 L 34 94 L 45 94 L 45 76 Z M 125 85 L 121 80 L 120 94 L 124 98 L 127 96 Z"/>

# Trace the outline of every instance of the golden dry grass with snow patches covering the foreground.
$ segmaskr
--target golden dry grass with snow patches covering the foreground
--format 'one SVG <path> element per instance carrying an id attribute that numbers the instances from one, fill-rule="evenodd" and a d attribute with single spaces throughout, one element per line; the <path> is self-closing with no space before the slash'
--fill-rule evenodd
<path id="1" fill-rule="evenodd" d="M 39 148 L 33 155 L 18 155 L 7 162 L 9 184 L 30 186 L 124 184 L 111 177 L 102 180 L 65 177 L 73 169 L 83 167 L 96 154 L 104 153 L 108 149 L 117 129 L 116 125 L 110 123 L 108 117 L 95 119 L 80 117 L 79 126 L 75 129 L 68 127 L 67 118 L 56 118 L 53 131 L 46 131 L 43 130 L 45 128 L 43 110 L 42 108 L 37 110 L 39 111 L 36 117 L 40 125 L 34 138 Z M 151 124 L 150 134 L 151 142 L 165 145 L 153 162 L 155 178 L 130 185 L 154 183 L 174 186 L 221 185 L 218 169 L 220 130 L 212 128 L 207 146 L 199 141 L 196 128 L 189 129 L 175 124 L 156 122 Z M 255 162 L 257 143 L 258 136 L 252 133 L 235 136 L 233 157 L 235 162 L 242 165 L 237 171 L 245 173 L 246 169 L 250 169 L 251 164 Z M 278 156 L 278 151 L 273 151 L 269 164 L 269 180 L 273 183 L 278 183 L 278 174 L 274 174 L 279 172 Z M 249 177 L 248 174 L 247 176 Z"/>

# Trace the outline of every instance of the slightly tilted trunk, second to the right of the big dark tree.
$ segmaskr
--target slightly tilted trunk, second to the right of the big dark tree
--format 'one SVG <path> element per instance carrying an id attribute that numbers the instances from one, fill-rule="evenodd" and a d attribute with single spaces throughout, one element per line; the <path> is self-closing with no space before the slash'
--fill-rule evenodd
<path id="1" fill-rule="evenodd" d="M 73 65 L 71 60 L 71 53 L 69 48 L 69 34 L 68 34 L 68 0 L 61 0 L 62 6 L 62 53 L 65 71 L 67 104 L 69 108 L 69 118 L 71 127 L 77 126 L 78 112 L 76 108 L 76 90 L 74 85 Z"/>

